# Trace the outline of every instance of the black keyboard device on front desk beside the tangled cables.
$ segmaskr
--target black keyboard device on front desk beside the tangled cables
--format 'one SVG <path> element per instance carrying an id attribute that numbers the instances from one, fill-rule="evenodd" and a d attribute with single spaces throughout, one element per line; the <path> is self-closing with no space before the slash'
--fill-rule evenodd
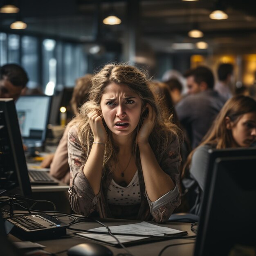
<path id="1" fill-rule="evenodd" d="M 22 238 L 42 238 L 49 236 L 63 236 L 66 234 L 68 225 L 53 216 L 45 213 L 24 214 L 6 218 L 13 225 L 11 234 Z"/>

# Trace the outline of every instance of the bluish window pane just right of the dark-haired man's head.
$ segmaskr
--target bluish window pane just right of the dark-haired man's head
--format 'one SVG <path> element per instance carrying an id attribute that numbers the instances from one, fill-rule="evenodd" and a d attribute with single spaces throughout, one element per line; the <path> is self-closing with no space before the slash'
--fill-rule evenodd
<path id="1" fill-rule="evenodd" d="M 29 76 L 28 88 L 41 87 L 39 84 L 39 56 L 38 39 L 32 36 L 22 36 L 21 38 L 22 56 L 21 65 Z"/>

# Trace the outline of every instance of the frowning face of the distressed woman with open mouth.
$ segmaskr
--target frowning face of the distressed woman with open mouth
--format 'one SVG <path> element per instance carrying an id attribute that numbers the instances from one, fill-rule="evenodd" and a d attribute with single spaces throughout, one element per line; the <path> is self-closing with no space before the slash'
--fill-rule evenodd
<path id="1" fill-rule="evenodd" d="M 118 136 L 130 135 L 139 123 L 142 101 L 127 85 L 110 83 L 101 97 L 106 125 Z"/>

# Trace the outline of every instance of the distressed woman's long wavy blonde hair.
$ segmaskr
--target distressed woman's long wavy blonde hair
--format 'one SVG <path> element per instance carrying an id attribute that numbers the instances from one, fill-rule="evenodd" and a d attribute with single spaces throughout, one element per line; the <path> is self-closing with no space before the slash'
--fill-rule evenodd
<path id="1" fill-rule="evenodd" d="M 174 139 L 173 136 L 182 136 L 179 128 L 169 121 L 167 112 L 162 111 L 159 101 L 155 94 L 150 89 L 149 79 L 147 73 L 137 69 L 136 67 L 126 64 L 107 64 L 98 73 L 92 77 L 92 87 L 89 93 L 89 101 L 83 104 L 80 108 L 80 114 L 77 117 L 80 120 L 78 126 L 78 137 L 82 149 L 85 152 L 85 156 L 88 157 L 92 142 L 94 140 L 90 124 L 88 122 L 88 113 L 93 110 L 101 112 L 100 102 L 102 94 L 104 94 L 105 88 L 110 84 L 115 83 L 117 85 L 127 85 L 130 90 L 137 93 L 142 101 L 142 108 L 149 103 L 156 114 L 155 127 L 150 134 L 149 143 L 152 147 L 157 161 L 160 162 L 166 149 L 171 141 Z M 136 164 L 138 168 L 141 168 L 139 150 L 137 148 L 137 134 L 144 120 L 144 113 L 141 113 L 141 119 L 137 128 L 133 132 L 134 144 L 132 153 L 135 155 Z M 117 160 L 118 147 L 112 140 L 111 131 L 105 125 L 108 133 L 108 141 L 105 146 L 103 169 L 108 168 L 108 164 L 111 161 Z"/>

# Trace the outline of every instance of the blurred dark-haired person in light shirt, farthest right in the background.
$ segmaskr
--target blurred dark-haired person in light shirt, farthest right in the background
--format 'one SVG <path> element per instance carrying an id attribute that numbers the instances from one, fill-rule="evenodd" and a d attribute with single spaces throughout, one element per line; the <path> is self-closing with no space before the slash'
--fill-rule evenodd
<path id="1" fill-rule="evenodd" d="M 221 63 L 218 66 L 218 83 L 214 89 L 226 99 L 233 96 L 234 91 L 234 66 L 230 63 Z"/>

